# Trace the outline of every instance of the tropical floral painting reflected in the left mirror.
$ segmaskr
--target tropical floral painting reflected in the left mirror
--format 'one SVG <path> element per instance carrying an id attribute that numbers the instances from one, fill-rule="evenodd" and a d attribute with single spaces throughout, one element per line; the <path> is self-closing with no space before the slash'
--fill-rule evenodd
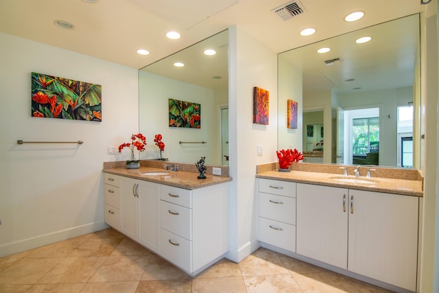
<path id="1" fill-rule="evenodd" d="M 201 105 L 169 99 L 169 127 L 201 128 Z"/>

